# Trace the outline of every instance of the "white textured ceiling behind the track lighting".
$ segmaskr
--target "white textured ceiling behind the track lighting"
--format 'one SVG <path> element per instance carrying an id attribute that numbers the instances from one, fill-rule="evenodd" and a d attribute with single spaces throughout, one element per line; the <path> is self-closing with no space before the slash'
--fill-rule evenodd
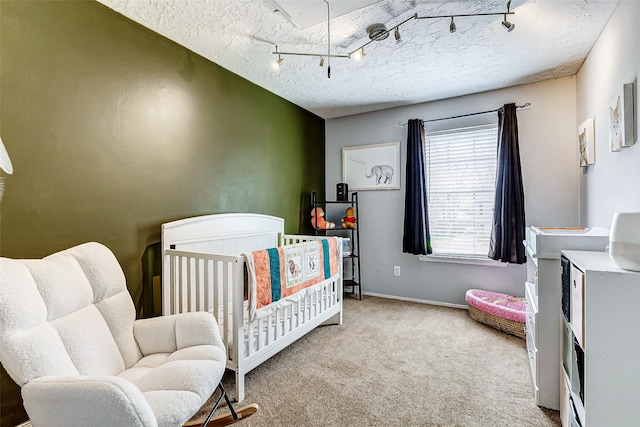
<path id="1" fill-rule="evenodd" d="M 326 119 L 574 75 L 618 3 L 513 0 L 511 32 L 501 26 L 502 16 L 456 18 L 455 33 L 450 19 L 410 19 L 400 26 L 401 43 L 390 35 L 367 46 L 359 62 L 332 58 L 327 78 L 327 64 L 319 66 L 328 50 L 323 0 L 99 1 Z M 415 14 L 506 11 L 502 0 L 329 4 L 331 53 L 339 55 L 368 42 L 366 29 L 374 23 L 392 28 Z M 280 51 L 318 56 L 284 56 L 276 72 L 276 44 Z"/>

